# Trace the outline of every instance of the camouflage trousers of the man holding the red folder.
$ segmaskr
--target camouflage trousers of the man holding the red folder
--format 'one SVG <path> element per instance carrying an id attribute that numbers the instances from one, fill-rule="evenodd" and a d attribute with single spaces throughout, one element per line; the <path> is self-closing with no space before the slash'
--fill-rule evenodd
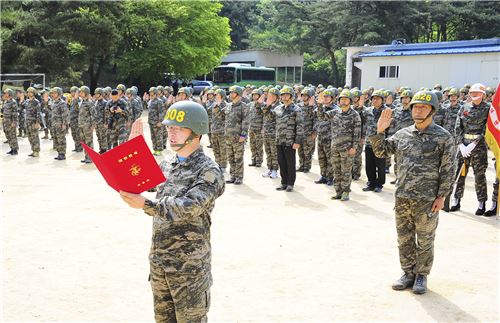
<path id="1" fill-rule="evenodd" d="M 207 322 L 210 289 L 196 275 L 165 273 L 150 263 L 155 321 L 161 323 Z"/>

